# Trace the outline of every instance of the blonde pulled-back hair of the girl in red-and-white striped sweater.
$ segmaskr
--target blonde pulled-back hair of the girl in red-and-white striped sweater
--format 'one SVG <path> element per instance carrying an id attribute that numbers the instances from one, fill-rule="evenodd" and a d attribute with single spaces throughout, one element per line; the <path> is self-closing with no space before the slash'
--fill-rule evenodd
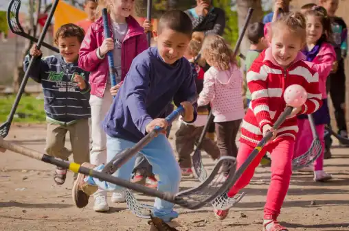
<path id="1" fill-rule="evenodd" d="M 303 43 L 306 42 L 306 20 L 300 12 L 282 14 L 278 20 L 271 23 L 271 36 L 280 29 L 289 29 L 290 32 L 297 34 Z"/>

